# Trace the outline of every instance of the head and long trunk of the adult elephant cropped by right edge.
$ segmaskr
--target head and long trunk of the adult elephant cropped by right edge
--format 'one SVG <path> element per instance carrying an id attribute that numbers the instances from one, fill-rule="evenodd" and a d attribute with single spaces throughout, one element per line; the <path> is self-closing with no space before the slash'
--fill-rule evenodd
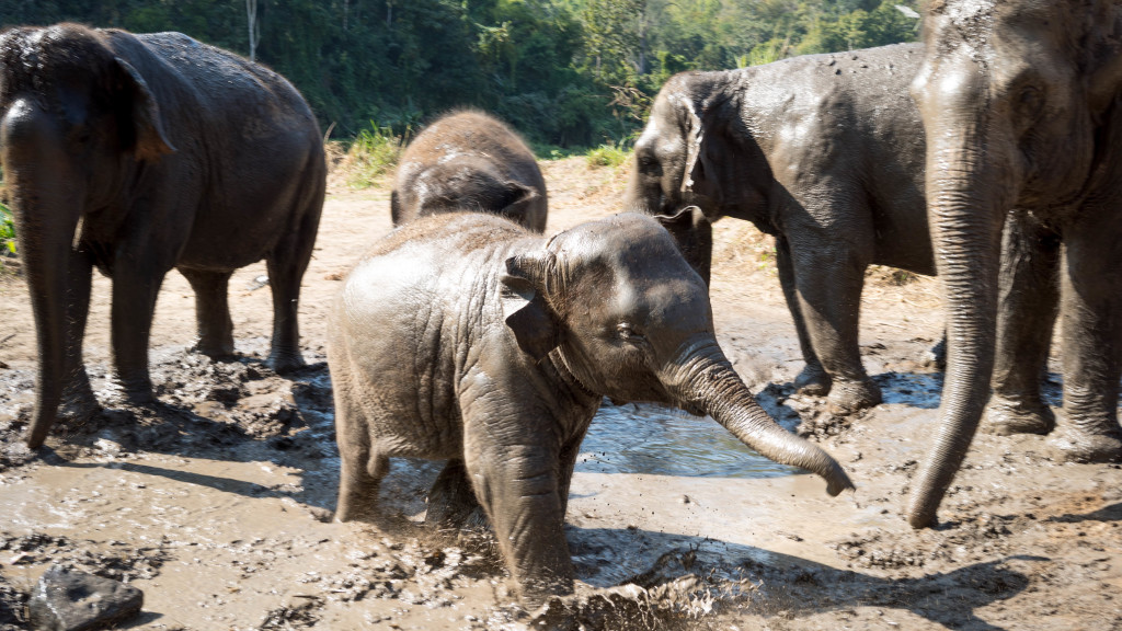
<path id="1" fill-rule="evenodd" d="M 990 396 L 1002 223 L 1063 221 L 1109 148 L 1122 7 L 1088 0 L 934 0 L 912 83 L 927 137 L 928 217 L 947 303 L 940 433 L 912 492 L 928 525 Z"/>

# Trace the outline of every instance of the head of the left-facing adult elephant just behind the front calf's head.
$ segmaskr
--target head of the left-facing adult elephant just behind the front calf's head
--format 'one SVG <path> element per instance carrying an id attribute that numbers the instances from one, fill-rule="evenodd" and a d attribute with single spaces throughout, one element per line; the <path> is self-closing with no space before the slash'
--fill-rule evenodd
<path id="1" fill-rule="evenodd" d="M 710 222 L 727 214 L 729 207 L 751 201 L 746 195 L 752 194 L 743 184 L 747 168 L 743 161 L 754 147 L 735 140 L 738 116 L 728 97 L 735 91 L 733 79 L 727 72 L 690 72 L 666 82 L 635 141 L 624 193 L 624 208 L 634 212 L 671 217 L 688 205 L 698 209 L 691 222 L 666 228 L 706 284 L 712 253 Z"/>

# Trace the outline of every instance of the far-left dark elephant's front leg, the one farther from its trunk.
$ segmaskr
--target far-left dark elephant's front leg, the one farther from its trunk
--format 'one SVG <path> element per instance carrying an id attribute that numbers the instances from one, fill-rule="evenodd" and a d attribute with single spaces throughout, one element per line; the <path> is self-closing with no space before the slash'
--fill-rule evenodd
<path id="1" fill-rule="evenodd" d="M 113 269 L 112 331 L 117 377 L 132 403 L 153 401 L 148 374 L 148 336 L 156 309 L 156 296 L 164 274 L 169 269 L 144 254 L 117 254 Z M 123 265 L 123 262 L 130 262 Z M 136 262 L 136 263 L 134 263 Z"/>

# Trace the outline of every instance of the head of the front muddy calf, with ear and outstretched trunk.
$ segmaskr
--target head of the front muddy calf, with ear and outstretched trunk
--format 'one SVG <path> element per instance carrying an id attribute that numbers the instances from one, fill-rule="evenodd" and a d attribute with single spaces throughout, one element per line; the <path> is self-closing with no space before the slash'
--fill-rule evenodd
<path id="1" fill-rule="evenodd" d="M 756 403 L 717 344 L 705 283 L 650 217 L 583 223 L 506 268 L 519 347 L 554 357 L 582 390 L 709 414 L 765 457 L 822 476 L 831 495 L 853 488 L 834 458 Z"/>

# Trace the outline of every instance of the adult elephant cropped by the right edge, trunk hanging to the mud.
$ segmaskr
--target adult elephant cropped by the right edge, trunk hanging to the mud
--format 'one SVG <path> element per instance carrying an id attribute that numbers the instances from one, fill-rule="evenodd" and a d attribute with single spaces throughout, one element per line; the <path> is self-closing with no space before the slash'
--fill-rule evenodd
<path id="1" fill-rule="evenodd" d="M 1045 318 L 1058 304 L 1064 409 L 1051 442 L 1075 460 L 1122 457 L 1122 3 L 934 0 L 923 37 L 912 92 L 927 134 L 949 351 L 940 432 L 908 512 L 917 528 L 935 520 L 969 448 L 995 349 L 1019 348 L 1037 365 L 1047 353 L 1039 329 L 1010 319 Z M 1056 245 L 1020 253 L 999 292 L 1002 222 L 1013 209 L 1009 231 Z M 1051 429 L 1031 410 L 1022 424 Z"/>

